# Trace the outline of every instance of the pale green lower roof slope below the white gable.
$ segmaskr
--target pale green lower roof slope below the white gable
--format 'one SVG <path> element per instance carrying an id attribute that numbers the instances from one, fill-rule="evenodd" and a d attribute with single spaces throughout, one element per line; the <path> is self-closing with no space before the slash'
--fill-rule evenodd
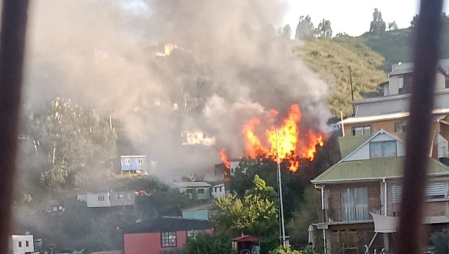
<path id="1" fill-rule="evenodd" d="M 405 157 L 341 161 L 312 180 L 312 183 L 351 181 L 366 178 L 402 176 Z M 449 167 L 429 158 L 428 174 L 449 173 Z"/>

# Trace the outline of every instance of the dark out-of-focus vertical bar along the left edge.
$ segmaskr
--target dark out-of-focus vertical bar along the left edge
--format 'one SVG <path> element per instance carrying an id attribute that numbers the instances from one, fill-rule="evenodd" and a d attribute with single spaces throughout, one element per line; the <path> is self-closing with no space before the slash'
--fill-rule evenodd
<path id="1" fill-rule="evenodd" d="M 3 0 L 0 31 L 0 253 L 7 253 L 28 0 Z"/>

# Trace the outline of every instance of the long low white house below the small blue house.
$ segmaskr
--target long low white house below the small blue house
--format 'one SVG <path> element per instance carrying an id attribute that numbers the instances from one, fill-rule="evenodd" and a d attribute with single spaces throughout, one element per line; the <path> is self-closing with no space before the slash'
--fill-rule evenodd
<path id="1" fill-rule="evenodd" d="M 109 192 L 89 192 L 78 194 L 78 201 L 86 202 L 87 207 L 117 207 L 134 206 L 136 202 L 135 191 L 109 191 Z"/>

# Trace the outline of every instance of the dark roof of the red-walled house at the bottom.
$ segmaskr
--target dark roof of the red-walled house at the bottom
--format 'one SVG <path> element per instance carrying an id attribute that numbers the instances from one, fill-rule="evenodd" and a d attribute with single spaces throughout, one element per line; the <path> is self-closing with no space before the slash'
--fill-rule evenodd
<path id="1" fill-rule="evenodd" d="M 213 229 L 212 223 L 209 221 L 186 219 L 182 217 L 160 217 L 131 224 L 128 227 L 124 228 L 124 233 L 138 234 L 207 229 Z"/>

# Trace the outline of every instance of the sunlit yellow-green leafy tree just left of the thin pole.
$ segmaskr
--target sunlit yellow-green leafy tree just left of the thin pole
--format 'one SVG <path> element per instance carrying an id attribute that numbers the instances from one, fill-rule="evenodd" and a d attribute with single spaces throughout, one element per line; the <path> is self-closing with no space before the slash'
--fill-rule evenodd
<path id="1" fill-rule="evenodd" d="M 272 250 L 279 243 L 276 192 L 258 175 L 252 183 L 243 198 L 228 194 L 215 202 L 219 210 L 215 229 L 227 238 L 241 233 L 261 237 L 264 251 Z"/>

